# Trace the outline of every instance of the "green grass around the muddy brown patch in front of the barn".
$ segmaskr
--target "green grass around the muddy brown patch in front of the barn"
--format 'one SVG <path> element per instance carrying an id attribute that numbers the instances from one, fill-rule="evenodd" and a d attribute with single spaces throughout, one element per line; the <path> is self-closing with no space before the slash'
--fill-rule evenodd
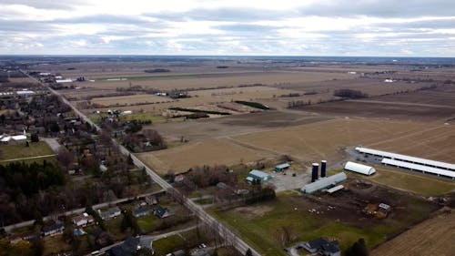
<path id="1" fill-rule="evenodd" d="M 407 206 L 409 215 L 403 220 L 389 220 L 368 227 L 356 227 L 340 220 L 328 220 L 308 213 L 304 199 L 300 195 L 280 194 L 276 200 L 251 207 L 260 214 L 244 214 L 238 210 L 216 211 L 209 210 L 218 220 L 222 220 L 232 230 L 257 249 L 261 255 L 286 255 L 285 246 L 294 242 L 308 241 L 319 237 L 327 237 L 339 241 L 341 250 L 346 250 L 353 242 L 364 238 L 369 248 L 385 241 L 395 232 L 404 229 L 411 223 L 428 215 L 432 207 L 422 200 L 410 200 Z M 256 210 L 255 210 L 256 209 Z M 286 245 L 278 241 L 279 230 L 291 227 L 295 239 Z"/>

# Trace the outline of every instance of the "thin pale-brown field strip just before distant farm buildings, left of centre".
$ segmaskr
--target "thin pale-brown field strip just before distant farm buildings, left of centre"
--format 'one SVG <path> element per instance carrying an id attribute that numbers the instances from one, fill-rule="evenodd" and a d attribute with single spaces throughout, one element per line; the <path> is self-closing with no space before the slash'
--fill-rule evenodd
<path id="1" fill-rule="evenodd" d="M 159 97 L 156 95 L 150 94 L 138 94 L 138 95 L 129 95 L 129 96 L 116 96 L 116 97 L 94 97 L 92 98 L 92 103 L 99 105 L 112 106 L 116 104 L 120 105 L 134 105 L 137 103 L 159 103 L 173 101 L 168 97 Z"/>

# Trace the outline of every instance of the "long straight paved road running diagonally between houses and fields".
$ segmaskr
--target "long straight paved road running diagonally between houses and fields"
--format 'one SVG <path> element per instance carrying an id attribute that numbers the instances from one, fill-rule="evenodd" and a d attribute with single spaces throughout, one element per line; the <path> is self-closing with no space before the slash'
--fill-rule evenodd
<path id="1" fill-rule="evenodd" d="M 48 88 L 54 95 L 57 97 L 60 97 L 63 102 L 65 102 L 70 108 L 75 111 L 76 115 L 79 116 L 81 119 L 92 125 L 92 127 L 95 127 L 96 130 L 101 130 L 92 120 L 86 117 L 81 111 L 79 111 L 77 108 L 75 108 L 71 103 L 63 97 L 58 91 L 55 89 L 48 87 L 46 84 L 42 83 L 35 77 L 31 77 L 26 72 L 23 70 L 20 70 L 22 73 L 25 74 L 25 76 L 30 77 L 31 79 L 34 79 L 37 83 L 41 84 L 42 86 Z M 126 156 L 131 156 L 131 159 L 133 159 L 133 163 L 136 165 L 137 168 L 139 169 L 145 169 L 147 171 L 148 176 L 150 176 L 151 179 L 153 179 L 161 188 L 163 189 L 172 189 L 172 185 L 167 183 L 165 179 L 162 179 L 154 170 L 149 169 L 140 159 L 137 159 L 136 156 L 134 156 L 129 150 L 127 150 L 125 147 L 120 145 L 115 139 L 112 139 L 113 143 L 120 148 L 120 152 Z M 191 210 L 195 215 L 202 221 L 204 221 L 209 227 L 215 227 L 217 230 L 218 234 L 222 237 L 225 238 L 228 244 L 232 244 L 240 253 L 245 253 L 248 251 L 248 249 L 251 249 L 253 252 L 254 256 L 260 256 L 258 251 L 254 250 L 251 248 L 247 242 L 243 241 L 237 234 L 232 232 L 231 230 L 227 229 L 226 225 L 221 223 L 220 221 L 216 220 L 213 218 L 211 215 L 209 215 L 202 207 L 197 205 L 195 202 L 192 200 L 189 200 L 187 198 L 184 199 L 183 203 L 188 210 Z"/>

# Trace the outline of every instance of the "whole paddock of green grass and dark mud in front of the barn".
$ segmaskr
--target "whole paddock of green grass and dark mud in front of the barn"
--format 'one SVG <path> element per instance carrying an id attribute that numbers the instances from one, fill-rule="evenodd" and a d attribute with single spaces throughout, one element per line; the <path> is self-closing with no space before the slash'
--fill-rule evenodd
<path id="1" fill-rule="evenodd" d="M 281 193 L 276 200 L 232 210 L 210 210 L 219 220 L 237 230 L 262 255 L 286 255 L 283 247 L 321 236 L 336 239 L 346 250 L 359 237 L 373 248 L 410 224 L 424 220 L 437 206 L 398 190 L 373 184 L 360 186 L 356 179 L 345 183 L 339 194 L 314 196 Z M 389 203 L 386 219 L 364 213 L 369 203 Z M 282 241 L 281 232 L 290 234 Z"/>

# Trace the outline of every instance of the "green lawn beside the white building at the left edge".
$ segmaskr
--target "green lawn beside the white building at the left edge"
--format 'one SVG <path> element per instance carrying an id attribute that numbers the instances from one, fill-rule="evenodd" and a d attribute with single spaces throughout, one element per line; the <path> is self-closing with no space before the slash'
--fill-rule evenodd
<path id="1" fill-rule="evenodd" d="M 54 151 L 45 141 L 30 143 L 30 147 L 25 147 L 25 145 L 0 145 L 0 151 L 0 160 L 2 161 L 54 155 Z"/>

